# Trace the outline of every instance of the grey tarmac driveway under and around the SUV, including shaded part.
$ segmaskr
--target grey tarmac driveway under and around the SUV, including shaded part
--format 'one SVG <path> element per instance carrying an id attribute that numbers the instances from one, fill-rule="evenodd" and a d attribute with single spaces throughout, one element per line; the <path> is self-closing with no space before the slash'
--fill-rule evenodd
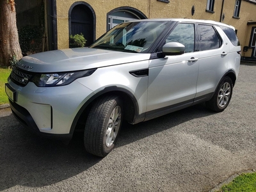
<path id="1" fill-rule="evenodd" d="M 222 113 L 203 104 L 124 124 L 105 158 L 35 136 L 0 109 L 0 191 L 210 191 L 256 170 L 256 65 L 243 63 Z"/>

